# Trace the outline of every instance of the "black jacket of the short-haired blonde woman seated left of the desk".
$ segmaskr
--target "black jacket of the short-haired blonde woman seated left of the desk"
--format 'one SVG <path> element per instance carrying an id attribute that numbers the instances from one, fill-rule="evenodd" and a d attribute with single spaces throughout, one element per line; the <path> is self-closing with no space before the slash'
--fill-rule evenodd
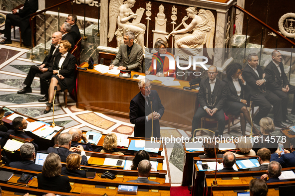
<path id="1" fill-rule="evenodd" d="M 58 70 L 58 63 L 61 59 L 61 55 L 58 55 L 53 63 L 53 69 Z M 76 78 L 75 78 L 75 64 L 76 64 L 76 58 L 71 53 L 67 53 L 61 68 L 59 70 L 59 74 L 64 77 L 64 81 L 67 87 L 68 92 L 72 92 L 75 84 L 76 84 Z"/>

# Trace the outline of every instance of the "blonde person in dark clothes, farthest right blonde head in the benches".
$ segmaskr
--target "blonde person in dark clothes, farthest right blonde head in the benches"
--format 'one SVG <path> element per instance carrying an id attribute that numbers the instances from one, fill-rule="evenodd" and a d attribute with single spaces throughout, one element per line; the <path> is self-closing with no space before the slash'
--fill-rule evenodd
<path id="1" fill-rule="evenodd" d="M 259 125 L 261 133 L 263 134 L 263 141 L 261 141 L 261 137 L 259 137 L 258 141 L 256 140 L 257 142 L 253 144 L 253 150 L 257 152 L 260 148 L 266 147 L 271 150 L 271 154 L 275 153 L 278 149 L 279 138 L 271 135 L 271 132 L 276 130 L 273 120 L 270 117 L 261 118 Z M 272 138 L 275 138 L 275 140 L 273 141 Z"/>

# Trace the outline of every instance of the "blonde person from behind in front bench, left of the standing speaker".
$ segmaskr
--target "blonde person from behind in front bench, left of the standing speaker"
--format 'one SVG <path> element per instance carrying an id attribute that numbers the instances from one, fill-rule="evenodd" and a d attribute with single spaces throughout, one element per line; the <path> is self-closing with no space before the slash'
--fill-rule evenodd
<path id="1" fill-rule="evenodd" d="M 124 153 L 118 152 L 117 146 L 117 135 L 115 133 L 108 133 L 103 140 L 103 149 L 99 148 L 97 152 L 124 155 Z"/>

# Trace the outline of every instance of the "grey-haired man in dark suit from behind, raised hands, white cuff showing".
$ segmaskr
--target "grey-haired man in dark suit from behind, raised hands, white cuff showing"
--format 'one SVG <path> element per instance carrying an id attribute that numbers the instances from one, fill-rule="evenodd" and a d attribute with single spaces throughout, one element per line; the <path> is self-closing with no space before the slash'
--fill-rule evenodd
<path id="1" fill-rule="evenodd" d="M 49 147 L 47 152 L 54 152 L 59 155 L 62 162 L 66 162 L 68 155 L 75 153 L 76 151 L 81 152 L 82 160 L 81 165 L 87 165 L 87 157 L 83 146 L 71 147 L 72 136 L 69 133 L 62 133 L 58 135 L 57 142 L 59 148 Z"/>

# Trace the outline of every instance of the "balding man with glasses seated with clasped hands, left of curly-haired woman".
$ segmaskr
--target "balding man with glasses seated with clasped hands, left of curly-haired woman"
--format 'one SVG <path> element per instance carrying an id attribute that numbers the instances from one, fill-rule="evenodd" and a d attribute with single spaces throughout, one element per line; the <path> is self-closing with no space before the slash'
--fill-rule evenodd
<path id="1" fill-rule="evenodd" d="M 198 95 L 200 107 L 193 118 L 192 137 L 194 137 L 195 129 L 199 127 L 201 118 L 206 115 L 214 115 L 218 119 L 218 131 L 221 136 L 223 135 L 225 127 L 223 105 L 227 99 L 227 85 L 225 82 L 216 78 L 217 74 L 217 67 L 214 65 L 210 66 L 208 68 L 209 78 L 202 79 L 200 82 Z"/>

